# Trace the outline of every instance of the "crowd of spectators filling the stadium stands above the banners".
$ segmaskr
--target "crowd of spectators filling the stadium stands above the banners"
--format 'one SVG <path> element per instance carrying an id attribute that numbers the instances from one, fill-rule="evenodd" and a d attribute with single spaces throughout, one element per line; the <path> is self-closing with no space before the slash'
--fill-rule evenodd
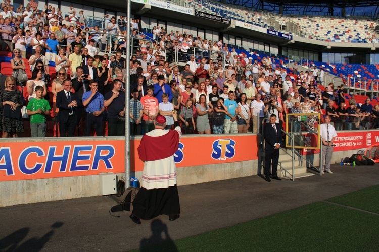
<path id="1" fill-rule="evenodd" d="M 332 115 L 336 130 L 379 128 L 379 105 L 373 107 L 367 98 L 358 106 L 354 95 L 345 101 L 343 85 L 335 89 L 333 83 L 320 84 L 322 68 L 310 66 L 303 73 L 295 64 L 297 79 L 292 81 L 273 58 L 252 61 L 222 40 L 155 27 L 155 40 L 147 42 L 137 35 L 139 20 L 130 25 L 133 55 L 127 63 L 121 35 L 127 27 L 125 17 L 111 17 L 104 30 L 120 34 L 119 40 L 97 33 L 99 27 L 83 29 L 83 12 L 78 17 L 72 7 L 63 17 L 52 6 L 39 11 L 30 4 L 3 5 L 1 53 L 12 57 L 2 64 L 3 69 L 9 65 L 10 76 L 0 74 L 3 137 L 25 131 L 22 114 L 30 117 L 32 137 L 44 137 L 49 121 L 58 125 L 54 134 L 61 137 L 124 135 L 125 120 L 131 135 L 141 135 L 154 129 L 158 114 L 166 117 L 167 128 L 172 127 L 172 110 L 177 111 L 184 134 L 257 133 L 263 118 L 275 114 L 282 125 L 287 113 Z M 107 39 L 114 54 L 100 56 Z M 186 62 L 182 71 L 169 66 L 175 51 Z M 123 74 L 126 64 L 129 84 Z M 130 85 L 130 104 L 125 104 L 125 85 Z M 125 106 L 130 106 L 129 115 Z M 295 132 L 317 128 L 316 114 L 307 116 L 309 128 L 294 118 L 288 117 L 287 123 L 292 121 Z"/>

